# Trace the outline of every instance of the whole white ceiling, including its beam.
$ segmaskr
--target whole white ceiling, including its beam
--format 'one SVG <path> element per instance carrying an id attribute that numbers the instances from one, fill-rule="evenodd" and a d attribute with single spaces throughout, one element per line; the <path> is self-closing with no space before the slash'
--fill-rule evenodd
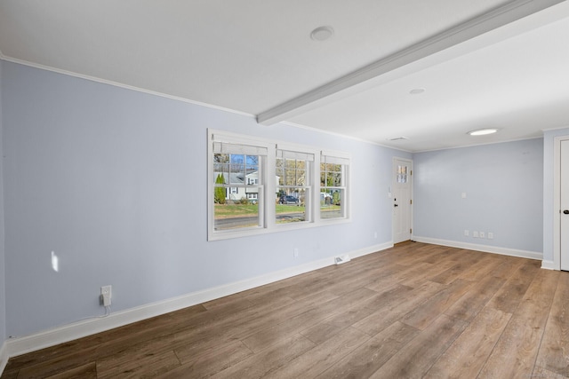
<path id="1" fill-rule="evenodd" d="M 0 51 L 413 152 L 569 127 L 560 0 L 0 0 Z"/>

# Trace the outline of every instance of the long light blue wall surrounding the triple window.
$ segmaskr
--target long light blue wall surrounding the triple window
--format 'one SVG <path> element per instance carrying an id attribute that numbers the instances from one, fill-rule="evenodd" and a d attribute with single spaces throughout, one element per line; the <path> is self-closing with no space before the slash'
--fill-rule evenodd
<path id="1" fill-rule="evenodd" d="M 3 68 L 7 336 L 100 315 L 102 285 L 121 311 L 391 241 L 391 162 L 410 154 Z M 350 152 L 353 222 L 206 241 L 207 128 Z"/>

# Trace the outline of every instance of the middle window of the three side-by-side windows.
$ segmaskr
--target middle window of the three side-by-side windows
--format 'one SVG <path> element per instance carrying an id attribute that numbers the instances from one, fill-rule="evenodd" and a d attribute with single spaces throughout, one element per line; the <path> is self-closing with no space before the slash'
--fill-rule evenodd
<path id="1" fill-rule="evenodd" d="M 314 154 L 276 150 L 276 224 L 310 221 L 313 164 Z"/>

